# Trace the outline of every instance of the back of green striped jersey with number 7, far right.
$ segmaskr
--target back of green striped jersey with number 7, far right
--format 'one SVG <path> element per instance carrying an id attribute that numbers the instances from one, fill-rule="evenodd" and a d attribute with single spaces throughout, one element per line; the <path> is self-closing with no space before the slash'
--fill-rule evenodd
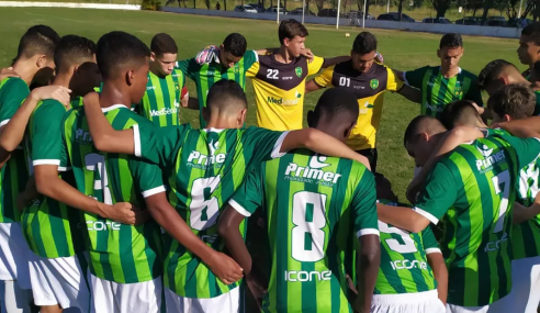
<path id="1" fill-rule="evenodd" d="M 481 138 L 460 145 L 438 166 L 448 168 L 449 181 L 454 183 L 451 189 L 457 190 L 452 208 L 442 217 L 449 303 L 492 303 L 511 287 L 509 236 L 518 172 L 516 152 L 500 137 Z"/>

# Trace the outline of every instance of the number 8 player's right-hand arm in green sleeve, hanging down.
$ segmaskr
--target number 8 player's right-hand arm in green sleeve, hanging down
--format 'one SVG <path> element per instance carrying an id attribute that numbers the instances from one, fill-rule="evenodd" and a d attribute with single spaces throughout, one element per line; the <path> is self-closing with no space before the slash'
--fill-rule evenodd
<path id="1" fill-rule="evenodd" d="M 351 201 L 352 220 L 360 250 L 357 264 L 357 300 L 355 310 L 370 312 L 371 299 L 381 265 L 381 244 L 376 216 L 375 179 L 371 172 L 364 172 Z"/>

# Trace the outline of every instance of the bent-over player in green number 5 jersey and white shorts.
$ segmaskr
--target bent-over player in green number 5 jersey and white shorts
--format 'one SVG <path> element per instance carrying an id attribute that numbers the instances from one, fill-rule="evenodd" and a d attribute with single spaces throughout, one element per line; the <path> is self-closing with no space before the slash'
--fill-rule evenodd
<path id="1" fill-rule="evenodd" d="M 378 202 L 400 205 L 390 181 L 375 175 Z M 370 312 L 445 313 L 448 271 L 430 227 L 414 234 L 379 221 L 381 268 Z"/>

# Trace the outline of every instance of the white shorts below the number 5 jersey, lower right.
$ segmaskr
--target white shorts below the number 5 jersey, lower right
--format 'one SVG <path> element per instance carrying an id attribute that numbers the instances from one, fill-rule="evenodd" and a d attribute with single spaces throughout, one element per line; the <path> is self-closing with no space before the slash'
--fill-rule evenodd
<path id="1" fill-rule="evenodd" d="M 403 293 L 373 294 L 371 313 L 445 313 L 445 304 L 439 300 L 437 290 Z"/>

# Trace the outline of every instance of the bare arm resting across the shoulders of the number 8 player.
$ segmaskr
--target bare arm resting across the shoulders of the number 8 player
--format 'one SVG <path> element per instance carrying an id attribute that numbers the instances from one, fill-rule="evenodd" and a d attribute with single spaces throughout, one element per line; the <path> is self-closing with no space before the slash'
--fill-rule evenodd
<path id="1" fill-rule="evenodd" d="M 327 156 L 353 159 L 371 170 L 368 158 L 351 150 L 346 144 L 315 128 L 291 131 L 285 134 L 280 153 L 307 148 Z"/>

